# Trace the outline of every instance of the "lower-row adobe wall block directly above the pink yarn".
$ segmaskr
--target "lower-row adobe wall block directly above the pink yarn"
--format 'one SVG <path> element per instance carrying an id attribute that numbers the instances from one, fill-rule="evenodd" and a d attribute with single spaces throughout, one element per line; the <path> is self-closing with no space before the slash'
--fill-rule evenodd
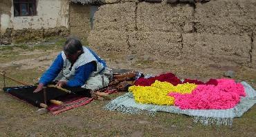
<path id="1" fill-rule="evenodd" d="M 250 61 L 251 40 L 247 34 L 183 34 L 183 59 L 197 63 L 246 65 Z"/>

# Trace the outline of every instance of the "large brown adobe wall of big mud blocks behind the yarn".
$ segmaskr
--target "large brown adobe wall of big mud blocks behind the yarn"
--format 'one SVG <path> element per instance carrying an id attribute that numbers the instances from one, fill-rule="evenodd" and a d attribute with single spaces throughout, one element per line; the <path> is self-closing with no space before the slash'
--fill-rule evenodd
<path id="1" fill-rule="evenodd" d="M 106 54 L 174 65 L 256 67 L 256 1 L 118 2 L 100 6 L 88 36 Z"/>

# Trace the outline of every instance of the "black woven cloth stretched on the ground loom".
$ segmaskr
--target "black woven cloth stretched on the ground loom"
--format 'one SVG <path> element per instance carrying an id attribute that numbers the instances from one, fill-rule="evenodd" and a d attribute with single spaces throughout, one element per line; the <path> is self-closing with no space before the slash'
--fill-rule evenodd
<path id="1" fill-rule="evenodd" d="M 11 94 L 12 96 L 16 96 L 17 98 L 26 101 L 32 105 L 39 107 L 40 103 L 44 103 L 44 92 L 33 93 L 33 91 L 37 88 L 36 85 L 31 86 L 20 86 L 20 87 L 3 87 L 3 91 Z M 65 89 L 70 90 L 73 94 L 77 96 L 87 96 L 91 97 L 91 93 L 89 90 L 84 89 L 82 87 L 66 87 Z M 61 89 L 57 89 L 55 87 L 47 87 L 46 88 L 46 101 L 47 104 L 50 100 L 58 98 L 63 98 L 68 93 L 62 91 Z"/>

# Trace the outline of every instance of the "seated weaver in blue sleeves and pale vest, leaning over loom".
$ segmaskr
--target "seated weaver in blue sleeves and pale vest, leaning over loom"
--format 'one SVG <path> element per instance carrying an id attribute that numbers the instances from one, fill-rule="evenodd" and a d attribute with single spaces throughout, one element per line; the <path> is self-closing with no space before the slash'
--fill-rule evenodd
<path id="1" fill-rule="evenodd" d="M 109 84 L 112 70 L 91 49 L 82 46 L 75 38 L 69 38 L 64 50 L 42 75 L 34 92 L 39 92 L 51 81 L 58 81 L 57 86 L 84 87 L 96 90 Z"/>

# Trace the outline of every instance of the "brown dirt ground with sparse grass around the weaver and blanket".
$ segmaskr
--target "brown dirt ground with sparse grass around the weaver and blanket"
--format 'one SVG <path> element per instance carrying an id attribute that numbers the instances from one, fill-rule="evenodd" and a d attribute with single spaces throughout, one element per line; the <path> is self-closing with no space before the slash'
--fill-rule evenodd
<path id="1" fill-rule="evenodd" d="M 63 39 L 20 45 L 0 45 L 0 70 L 26 83 L 36 83 L 39 76 L 62 50 Z M 241 66 L 209 67 L 186 63 L 161 63 L 145 56 L 114 56 L 98 53 L 109 67 L 129 69 L 145 74 L 173 72 L 180 78 L 221 78 L 227 70 L 235 72 L 237 81 L 246 81 L 256 89 L 256 70 Z M 176 64 L 176 65 L 173 65 Z M 179 65 L 177 65 L 179 64 Z M 7 86 L 19 85 L 7 81 Z M 0 87 L 3 78 L 0 77 Z M 125 93 L 111 94 L 111 99 Z M 93 101 L 57 116 L 39 115 L 37 107 L 0 92 L 0 136 L 255 136 L 256 106 L 230 126 L 203 126 L 192 117 L 159 112 L 156 116 L 110 112 L 102 107 L 109 101 Z"/>

